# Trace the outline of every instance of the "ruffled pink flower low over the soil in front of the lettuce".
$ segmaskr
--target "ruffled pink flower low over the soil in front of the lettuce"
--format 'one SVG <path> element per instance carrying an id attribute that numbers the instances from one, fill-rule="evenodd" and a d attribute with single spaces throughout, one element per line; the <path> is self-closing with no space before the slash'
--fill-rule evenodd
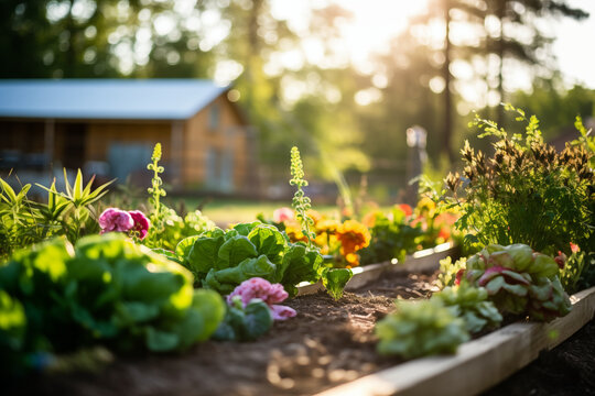
<path id="1" fill-rule="evenodd" d="M 260 298 L 271 309 L 274 320 L 285 320 L 298 315 L 293 308 L 275 304 L 282 302 L 289 296 L 283 289 L 283 285 L 273 285 L 269 280 L 261 277 L 253 277 L 248 280 L 244 280 L 239 286 L 236 287 L 234 292 L 231 292 L 229 296 L 227 296 L 227 304 L 231 305 L 231 299 L 235 296 L 241 297 L 241 302 L 245 307 L 253 298 Z"/>

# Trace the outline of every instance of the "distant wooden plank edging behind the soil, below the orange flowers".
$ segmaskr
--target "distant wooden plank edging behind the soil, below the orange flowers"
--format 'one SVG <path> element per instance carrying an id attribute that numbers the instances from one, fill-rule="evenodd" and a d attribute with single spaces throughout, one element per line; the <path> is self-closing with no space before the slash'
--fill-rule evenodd
<path id="1" fill-rule="evenodd" d="M 366 286 L 369 283 L 378 279 L 381 274 L 387 271 L 393 273 L 409 273 L 409 272 L 428 272 L 437 270 L 440 261 L 457 252 L 457 248 L 452 243 L 443 243 L 435 248 L 425 249 L 408 255 L 402 263 L 398 262 L 382 262 L 378 264 L 370 264 L 354 268 L 354 276 L 347 283 L 346 290 L 354 290 Z M 298 287 L 298 296 L 314 294 L 318 290 L 324 290 L 322 283 L 315 283 L 312 285 L 304 285 Z"/>

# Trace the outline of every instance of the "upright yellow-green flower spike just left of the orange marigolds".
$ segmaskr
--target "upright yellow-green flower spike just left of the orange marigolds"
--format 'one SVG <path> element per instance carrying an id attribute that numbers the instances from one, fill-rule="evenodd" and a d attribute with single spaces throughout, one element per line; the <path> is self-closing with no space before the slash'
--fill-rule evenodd
<path id="1" fill-rule="evenodd" d="M 307 215 L 312 206 L 310 198 L 305 196 L 302 189 L 307 186 L 307 180 L 304 179 L 304 166 L 300 157 L 300 150 L 295 146 L 291 148 L 290 185 L 296 188 L 291 202 L 293 210 L 295 210 L 295 218 L 300 221 L 302 233 L 307 238 L 309 245 L 312 248 L 312 241 L 316 239 L 316 234 L 311 230 L 311 227 L 314 226 L 314 220 Z"/>

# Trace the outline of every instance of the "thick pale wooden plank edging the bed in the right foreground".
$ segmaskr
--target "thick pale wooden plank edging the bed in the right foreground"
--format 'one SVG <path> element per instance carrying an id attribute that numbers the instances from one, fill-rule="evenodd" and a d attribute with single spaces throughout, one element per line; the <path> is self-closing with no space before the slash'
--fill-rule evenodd
<path id="1" fill-rule="evenodd" d="M 453 356 L 422 358 L 317 394 L 476 395 L 551 350 L 595 317 L 595 287 L 571 296 L 572 311 L 548 323 L 516 322 L 461 345 Z M 558 337 L 552 337 L 556 334 Z"/>

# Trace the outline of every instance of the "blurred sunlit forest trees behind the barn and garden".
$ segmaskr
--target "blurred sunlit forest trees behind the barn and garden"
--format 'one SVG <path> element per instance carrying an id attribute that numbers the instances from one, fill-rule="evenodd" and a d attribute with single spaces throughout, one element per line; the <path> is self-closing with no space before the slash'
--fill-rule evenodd
<path id="1" fill-rule="evenodd" d="M 367 175 L 380 200 L 407 185 L 412 125 L 428 131 L 429 166 L 444 174 L 475 134 L 472 110 L 507 125 L 499 103 L 510 101 L 539 114 L 545 139 L 577 114 L 593 117 L 595 91 L 563 82 L 547 29 L 589 18 L 576 2 L 370 2 L 368 12 L 392 12 L 402 26 L 359 57 L 346 40 L 358 9 L 344 6 L 354 2 L 296 3 L 3 0 L 0 78 L 232 84 L 229 98 L 257 128 L 255 172 L 266 183 L 286 180 L 289 150 L 299 145 L 312 178 L 333 182 L 340 172 L 357 186 Z"/>

